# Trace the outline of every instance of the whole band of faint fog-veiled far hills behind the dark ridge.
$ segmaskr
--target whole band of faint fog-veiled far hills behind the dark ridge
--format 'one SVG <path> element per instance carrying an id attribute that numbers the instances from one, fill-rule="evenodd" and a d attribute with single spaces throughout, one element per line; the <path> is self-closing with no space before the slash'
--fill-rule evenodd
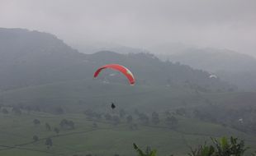
<path id="1" fill-rule="evenodd" d="M 250 91 L 256 89 L 256 58 L 229 49 L 198 48 L 181 43 L 159 44 L 146 48 L 132 48 L 111 43 L 73 46 L 82 53 L 96 53 L 97 50 L 110 50 L 116 53 L 154 53 L 163 61 L 180 62 L 194 69 L 208 71 L 222 80 L 237 85 L 239 89 Z"/>

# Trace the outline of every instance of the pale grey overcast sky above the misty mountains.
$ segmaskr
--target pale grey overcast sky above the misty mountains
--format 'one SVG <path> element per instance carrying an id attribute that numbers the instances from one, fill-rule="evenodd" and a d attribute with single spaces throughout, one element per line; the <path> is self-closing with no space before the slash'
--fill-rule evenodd
<path id="1" fill-rule="evenodd" d="M 256 55 L 256 0 L 0 0 L 0 27 L 70 44 L 183 43 Z"/>

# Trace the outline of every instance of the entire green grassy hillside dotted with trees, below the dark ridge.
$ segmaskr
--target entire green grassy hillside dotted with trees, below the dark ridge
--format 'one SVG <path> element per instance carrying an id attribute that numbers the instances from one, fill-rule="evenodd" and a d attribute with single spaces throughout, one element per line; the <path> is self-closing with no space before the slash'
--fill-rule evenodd
<path id="1" fill-rule="evenodd" d="M 235 135 L 254 149 L 253 131 L 237 121 L 242 117 L 244 124 L 251 119 L 254 123 L 255 97 L 254 93 L 203 94 L 187 88 L 130 87 L 94 80 L 12 89 L 0 96 L 0 154 L 135 155 L 135 142 L 156 148 L 161 155 L 184 155 L 189 146 L 223 135 Z M 115 110 L 111 110 L 111 102 L 116 103 Z M 5 108 L 8 113 L 3 112 Z M 20 109 L 21 114 L 14 108 Z M 63 111 L 59 112 L 59 108 Z M 100 117 L 85 113 L 88 110 Z M 121 110 L 126 112 L 125 117 L 121 117 Z M 152 112 L 159 114 L 158 124 L 152 122 Z M 227 112 L 230 115 L 225 115 Z M 119 117 L 118 124 L 107 119 L 107 114 Z M 149 122 L 141 120 L 141 114 L 149 117 Z M 129 115 L 137 128 L 132 129 L 132 124 L 126 121 Z M 168 125 L 167 117 L 177 118 L 178 124 Z M 36 126 L 34 119 L 40 125 Z M 75 128 L 62 128 L 59 123 L 63 119 L 73 121 Z M 249 125 L 254 125 L 252 122 Z M 45 123 L 58 127 L 59 134 L 47 131 Z M 95 123 L 97 127 L 93 126 Z M 40 140 L 34 142 L 33 135 Z M 47 138 L 53 141 L 50 149 L 45 145 Z"/>

